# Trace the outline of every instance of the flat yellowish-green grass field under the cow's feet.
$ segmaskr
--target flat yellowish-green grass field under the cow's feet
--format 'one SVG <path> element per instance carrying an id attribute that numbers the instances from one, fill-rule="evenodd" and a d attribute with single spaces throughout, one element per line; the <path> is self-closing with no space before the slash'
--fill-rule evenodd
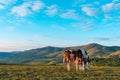
<path id="1" fill-rule="evenodd" d="M 96 67 L 68 72 L 64 65 L 0 65 L 0 80 L 120 80 L 120 67 Z"/>

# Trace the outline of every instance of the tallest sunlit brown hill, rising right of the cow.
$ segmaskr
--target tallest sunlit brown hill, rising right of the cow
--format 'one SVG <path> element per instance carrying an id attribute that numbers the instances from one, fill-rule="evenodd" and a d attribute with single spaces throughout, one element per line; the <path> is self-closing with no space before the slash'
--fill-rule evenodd
<path id="1" fill-rule="evenodd" d="M 92 43 L 88 45 L 84 45 L 81 48 L 87 50 L 90 57 L 108 57 L 113 52 L 120 50 L 120 47 L 117 46 L 103 46 L 100 44 Z"/>

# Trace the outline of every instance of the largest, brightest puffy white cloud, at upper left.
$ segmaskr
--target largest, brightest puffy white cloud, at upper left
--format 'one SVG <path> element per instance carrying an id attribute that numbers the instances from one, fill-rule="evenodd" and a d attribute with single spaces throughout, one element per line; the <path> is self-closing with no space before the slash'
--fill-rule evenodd
<path id="1" fill-rule="evenodd" d="M 45 4 L 41 1 L 24 2 L 20 6 L 13 7 L 11 13 L 16 14 L 17 16 L 27 16 L 33 12 L 39 11 L 44 6 Z"/>

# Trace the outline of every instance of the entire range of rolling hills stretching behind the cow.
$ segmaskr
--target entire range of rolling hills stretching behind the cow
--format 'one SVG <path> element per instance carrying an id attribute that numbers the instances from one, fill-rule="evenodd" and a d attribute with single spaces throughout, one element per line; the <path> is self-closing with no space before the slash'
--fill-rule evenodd
<path id="1" fill-rule="evenodd" d="M 103 46 L 100 44 L 92 43 L 83 46 L 74 46 L 74 47 L 43 47 L 32 50 L 26 50 L 23 52 L 13 53 L 1 53 L 0 54 L 0 62 L 1 59 L 5 63 L 20 63 L 20 64 L 56 64 L 62 61 L 63 52 L 67 49 L 77 50 L 77 49 L 85 49 L 90 58 L 98 57 L 98 58 L 109 58 L 112 56 L 120 55 L 120 47 L 117 46 Z"/>

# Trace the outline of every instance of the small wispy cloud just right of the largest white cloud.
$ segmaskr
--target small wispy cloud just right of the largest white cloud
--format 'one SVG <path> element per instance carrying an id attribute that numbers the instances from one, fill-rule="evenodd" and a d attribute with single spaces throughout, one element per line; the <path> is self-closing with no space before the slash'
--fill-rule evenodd
<path id="1" fill-rule="evenodd" d="M 58 6 L 57 5 L 48 6 L 45 12 L 49 16 L 54 16 L 58 12 Z"/>

